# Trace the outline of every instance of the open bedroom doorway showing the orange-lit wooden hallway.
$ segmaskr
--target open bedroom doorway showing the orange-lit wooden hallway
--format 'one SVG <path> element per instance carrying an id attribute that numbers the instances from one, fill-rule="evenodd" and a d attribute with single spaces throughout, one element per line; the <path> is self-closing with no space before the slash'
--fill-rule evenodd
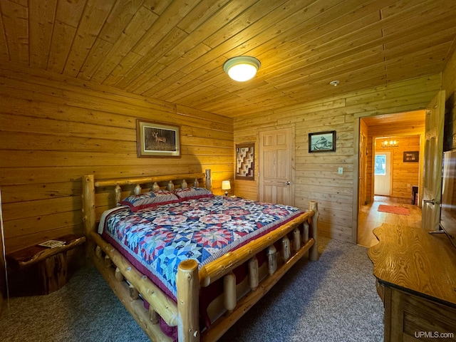
<path id="1" fill-rule="evenodd" d="M 412 204 L 412 195 L 420 185 L 422 160 L 404 162 L 404 152 L 423 154 L 425 110 L 360 118 L 359 129 L 357 243 L 370 247 L 378 242 L 373 229 L 385 222 L 421 227 L 421 209 Z M 391 139 L 398 140 L 398 146 L 385 144 Z M 408 215 L 379 211 L 380 205 L 405 207 Z"/>

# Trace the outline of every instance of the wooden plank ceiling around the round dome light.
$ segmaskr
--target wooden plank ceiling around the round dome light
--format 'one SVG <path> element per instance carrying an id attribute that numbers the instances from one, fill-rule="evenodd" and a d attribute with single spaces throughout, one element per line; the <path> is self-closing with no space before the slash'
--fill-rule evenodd
<path id="1" fill-rule="evenodd" d="M 228 117 L 440 73 L 454 0 L 1 0 L 0 61 Z M 261 61 L 232 81 L 228 58 Z M 338 80 L 338 87 L 330 81 Z"/>

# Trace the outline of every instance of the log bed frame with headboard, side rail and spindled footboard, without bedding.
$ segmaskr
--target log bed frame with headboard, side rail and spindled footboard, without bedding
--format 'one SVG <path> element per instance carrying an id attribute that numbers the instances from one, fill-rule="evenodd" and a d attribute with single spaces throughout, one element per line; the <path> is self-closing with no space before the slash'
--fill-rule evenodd
<path id="1" fill-rule="evenodd" d="M 174 190 L 175 186 L 187 187 L 185 180 L 195 180 L 193 186 L 206 187 L 209 190 L 212 187 L 210 170 L 206 170 L 205 173 L 188 175 L 123 178 L 96 182 L 93 175 L 83 177 L 83 224 L 87 238 L 88 257 L 152 341 L 171 341 L 171 338 L 160 330 L 159 316 L 169 326 L 177 326 L 180 342 L 217 341 L 307 252 L 309 252 L 309 259 L 318 260 L 316 234 L 318 209 L 317 203 L 311 201 L 306 213 L 244 247 L 209 262 L 199 271 L 197 261 L 193 259 L 182 261 L 177 270 L 176 304 L 147 276 L 135 269 L 111 244 L 108 244 L 98 234 L 97 228 L 101 212 L 109 207 L 114 207 L 115 203 L 120 202 L 120 199 L 123 198 L 121 186 L 129 187 L 130 192 L 134 186 L 135 194 L 139 194 L 142 191 L 141 185 L 153 184 L 152 190 L 157 190 L 160 188 L 160 184 L 167 182 L 167 185 L 161 188 Z M 113 202 L 112 195 L 108 195 L 108 198 L 105 193 L 95 195 L 95 188 L 100 192 L 110 190 L 111 193 L 115 193 L 115 202 Z M 125 197 L 130 195 L 130 192 Z M 96 204 L 95 199 L 97 199 Z M 101 206 L 98 202 L 102 202 Z M 106 204 L 107 202 L 110 202 L 110 205 Z M 291 242 L 287 234 L 292 237 Z M 277 252 L 274 242 L 279 241 L 281 250 Z M 266 252 L 269 272 L 269 276 L 262 280 L 259 279 L 258 260 L 255 257 L 261 251 Z M 232 270 L 244 263 L 247 263 L 249 269 L 250 291 L 237 300 L 236 277 Z M 222 277 L 223 302 L 226 312 L 217 321 L 214 321 L 209 329 L 200 331 L 199 289 Z M 150 304 L 148 311 L 140 300 L 141 297 Z"/>

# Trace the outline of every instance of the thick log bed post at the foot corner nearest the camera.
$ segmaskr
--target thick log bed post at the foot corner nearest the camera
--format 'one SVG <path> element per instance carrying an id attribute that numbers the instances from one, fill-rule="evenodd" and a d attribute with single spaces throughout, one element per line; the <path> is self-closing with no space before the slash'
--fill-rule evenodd
<path id="1" fill-rule="evenodd" d="M 194 259 L 181 261 L 177 267 L 177 312 L 179 342 L 199 342 L 199 276 Z"/>

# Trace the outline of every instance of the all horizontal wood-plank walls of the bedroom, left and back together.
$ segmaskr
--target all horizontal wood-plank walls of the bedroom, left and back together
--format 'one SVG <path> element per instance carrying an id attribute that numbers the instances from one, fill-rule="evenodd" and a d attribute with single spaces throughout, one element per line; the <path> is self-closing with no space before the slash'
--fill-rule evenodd
<path id="1" fill-rule="evenodd" d="M 63 76 L 9 69 L 16 71 L 0 73 L 0 186 L 9 251 L 82 232 L 79 180 L 83 174 L 128 177 L 138 172 L 200 172 L 210 166 L 217 192 L 221 180 L 232 179 L 233 139 L 234 143 L 257 142 L 262 128 L 289 123 L 296 128 L 296 205 L 305 207 L 309 199 L 318 200 L 321 234 L 353 241 L 356 118 L 425 108 L 440 88 L 440 76 L 390 83 L 237 118 L 233 135 L 232 120 L 218 115 Z M 453 122 L 455 80 L 453 53 L 442 74 Z M 135 118 L 182 125 L 182 158 L 137 158 Z M 323 130 L 337 130 L 336 152 L 309 155 L 308 133 Z M 344 167 L 343 175 L 337 175 L 338 166 Z M 232 192 L 256 199 L 257 180 L 236 181 Z"/>

